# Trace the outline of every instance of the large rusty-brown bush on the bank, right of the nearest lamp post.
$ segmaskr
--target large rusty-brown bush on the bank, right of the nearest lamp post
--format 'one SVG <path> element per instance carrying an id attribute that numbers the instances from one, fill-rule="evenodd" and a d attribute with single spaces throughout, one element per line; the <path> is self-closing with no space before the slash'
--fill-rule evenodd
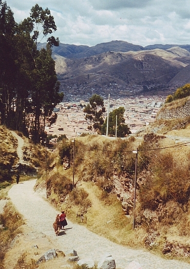
<path id="1" fill-rule="evenodd" d="M 169 151 L 156 151 L 147 157 L 146 169 L 150 169 L 152 175 L 146 176 L 146 181 L 141 186 L 140 203 L 143 209 L 155 210 L 159 203 L 174 199 L 182 206 L 188 202 L 190 196 L 190 173 L 185 162 L 181 165 L 179 155 Z M 144 167 L 145 168 L 145 167 Z"/>

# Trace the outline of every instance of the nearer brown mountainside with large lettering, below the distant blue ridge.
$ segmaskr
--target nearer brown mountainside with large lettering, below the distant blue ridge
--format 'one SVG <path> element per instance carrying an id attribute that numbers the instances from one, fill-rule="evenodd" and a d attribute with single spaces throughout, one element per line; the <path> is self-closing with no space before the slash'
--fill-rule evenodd
<path id="1" fill-rule="evenodd" d="M 53 59 L 63 90 L 73 84 L 131 89 L 132 85 L 176 85 L 190 80 L 190 53 L 180 48 L 107 52 L 74 60 L 53 54 Z"/>

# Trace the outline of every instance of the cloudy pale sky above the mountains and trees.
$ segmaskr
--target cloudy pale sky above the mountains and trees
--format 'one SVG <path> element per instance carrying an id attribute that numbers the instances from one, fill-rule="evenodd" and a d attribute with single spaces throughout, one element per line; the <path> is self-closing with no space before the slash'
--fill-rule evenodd
<path id="1" fill-rule="evenodd" d="M 4 2 L 4 0 L 3 0 Z M 48 8 L 61 43 L 95 46 L 112 40 L 146 46 L 190 44 L 189 0 L 7 0 L 17 23 L 35 4 Z M 46 42 L 46 39 L 43 40 Z"/>

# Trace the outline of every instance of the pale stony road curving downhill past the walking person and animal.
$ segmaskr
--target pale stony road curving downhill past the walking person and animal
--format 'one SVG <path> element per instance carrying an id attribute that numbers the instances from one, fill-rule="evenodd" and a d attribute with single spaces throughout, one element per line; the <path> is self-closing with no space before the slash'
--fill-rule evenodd
<path id="1" fill-rule="evenodd" d="M 92 258 L 98 262 L 106 252 L 111 254 L 116 261 L 116 268 L 125 268 L 131 261 L 138 261 L 143 269 L 190 269 L 190 264 L 165 260 L 143 250 L 134 250 L 115 244 L 104 237 L 93 234 L 84 226 L 74 224 L 67 218 L 66 230 L 56 237 L 52 224 L 56 214 L 60 213 L 35 193 L 33 187 L 36 180 L 24 181 L 14 184 L 9 190 L 8 196 L 20 212 L 29 227 L 36 232 L 42 232 L 48 236 L 56 248 L 63 252 L 75 249 L 80 259 Z M 44 228 L 44 223 L 46 227 Z"/>

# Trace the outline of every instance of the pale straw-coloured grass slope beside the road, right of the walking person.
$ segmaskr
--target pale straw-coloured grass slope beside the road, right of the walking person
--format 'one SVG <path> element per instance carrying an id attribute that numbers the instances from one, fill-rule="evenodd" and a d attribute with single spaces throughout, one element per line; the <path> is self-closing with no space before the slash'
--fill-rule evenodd
<path id="1" fill-rule="evenodd" d="M 83 225 L 87 226 L 92 232 L 104 236 L 116 243 L 130 246 L 137 246 L 134 240 L 134 233 L 132 232 L 132 219 L 126 217 L 121 208 L 120 202 L 116 196 L 108 196 L 98 186 L 92 182 L 81 182 L 80 187 L 76 191 L 84 189 L 88 194 L 88 199 L 91 206 L 87 213 L 84 214 L 84 220 L 77 220 Z M 77 213 L 80 213 L 80 207 L 69 206 L 68 202 L 67 212 L 72 221 L 76 221 Z M 139 242 L 138 242 L 138 246 Z"/>

